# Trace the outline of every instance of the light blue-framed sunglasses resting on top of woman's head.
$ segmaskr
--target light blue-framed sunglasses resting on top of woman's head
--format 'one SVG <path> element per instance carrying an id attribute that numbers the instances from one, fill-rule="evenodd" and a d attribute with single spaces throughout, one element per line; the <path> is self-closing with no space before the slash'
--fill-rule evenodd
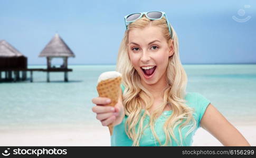
<path id="1" fill-rule="evenodd" d="M 148 19 L 151 19 L 151 20 L 161 19 L 164 16 L 165 19 L 166 19 L 166 23 L 168 25 L 168 28 L 169 28 L 170 37 L 173 38 L 173 32 L 172 32 L 172 29 L 170 29 L 168 18 L 166 16 L 165 12 L 143 12 L 143 13 L 128 14 L 128 15 L 125 16 L 126 29 L 127 29 L 127 26 L 130 23 L 132 23 L 132 22 L 136 21 L 137 19 L 141 18 L 144 14 L 146 15 L 146 17 Z"/>

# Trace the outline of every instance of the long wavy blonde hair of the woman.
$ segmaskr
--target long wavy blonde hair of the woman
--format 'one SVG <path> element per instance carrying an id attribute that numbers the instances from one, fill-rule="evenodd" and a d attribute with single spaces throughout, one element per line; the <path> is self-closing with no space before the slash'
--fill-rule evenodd
<path id="1" fill-rule="evenodd" d="M 158 26 L 162 28 L 163 35 L 167 40 L 168 45 L 173 44 L 174 54 L 169 57 L 168 66 L 166 71 L 167 87 L 164 89 L 163 104 L 159 105 L 157 110 L 155 110 L 151 115 L 148 110 L 154 103 L 154 97 L 150 92 L 140 83 L 140 76 L 132 66 L 129 55 L 128 55 L 128 35 L 129 31 L 134 28 L 144 28 L 148 25 Z M 133 141 L 132 146 L 139 146 L 139 140 L 143 135 L 144 129 L 150 125 L 150 129 L 154 134 L 155 139 L 159 142 L 161 146 L 166 146 L 168 143 L 172 144 L 172 138 L 178 145 L 183 145 L 181 130 L 183 127 L 192 126 L 191 129 L 186 133 L 185 137 L 191 133 L 195 127 L 196 122 L 193 117 L 193 108 L 186 105 L 185 90 L 187 85 L 187 75 L 185 70 L 179 60 L 178 53 L 178 37 L 173 27 L 170 25 L 173 37 L 170 37 L 169 29 L 166 24 L 166 19 L 163 17 L 159 20 L 151 21 L 150 19 L 141 17 L 137 21 L 128 25 L 127 31 L 125 32 L 124 38 L 120 44 L 118 58 L 117 58 L 117 68 L 116 71 L 122 74 L 122 84 L 126 87 L 123 94 L 123 104 L 125 107 L 125 114 L 128 116 L 125 123 L 125 131 L 129 139 Z M 141 115 L 141 110 L 145 106 L 145 112 Z M 154 130 L 154 124 L 157 116 L 163 113 L 165 106 L 172 106 L 172 115 L 170 115 L 164 126 L 163 130 L 165 132 L 166 141 L 164 145 L 161 144 L 158 136 Z M 146 116 L 150 116 L 150 121 L 147 126 L 143 128 L 143 122 Z M 183 122 L 183 123 L 182 123 Z M 192 122 L 192 124 L 190 124 Z M 182 123 L 182 124 L 181 124 Z M 175 135 L 174 129 L 176 126 L 181 124 L 178 128 L 179 139 L 178 143 Z M 136 128 L 138 130 L 136 131 Z"/>

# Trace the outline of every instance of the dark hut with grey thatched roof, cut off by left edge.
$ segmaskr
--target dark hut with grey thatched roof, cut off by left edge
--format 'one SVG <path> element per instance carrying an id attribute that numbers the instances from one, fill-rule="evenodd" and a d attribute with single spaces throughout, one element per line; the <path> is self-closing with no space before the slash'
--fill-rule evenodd
<path id="1" fill-rule="evenodd" d="M 19 52 L 15 47 L 6 42 L 0 41 L 0 81 L 26 80 L 27 57 Z M 22 78 L 20 72 L 22 71 Z M 2 79 L 2 72 L 5 72 L 5 78 Z M 14 78 L 12 74 L 14 73 Z"/>

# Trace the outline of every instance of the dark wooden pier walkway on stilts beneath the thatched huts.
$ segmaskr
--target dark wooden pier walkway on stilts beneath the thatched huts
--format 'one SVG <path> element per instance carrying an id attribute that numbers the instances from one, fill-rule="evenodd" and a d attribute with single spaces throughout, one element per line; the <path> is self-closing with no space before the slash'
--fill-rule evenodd
<path id="1" fill-rule="evenodd" d="M 30 72 L 30 82 L 33 82 L 33 72 L 46 72 L 46 81 L 50 82 L 50 72 L 64 72 L 64 82 L 68 82 L 68 72 L 73 70 L 70 68 L 0 68 L 0 82 L 5 81 L 26 81 L 27 72 Z M 2 77 L 2 72 L 5 72 L 5 77 Z M 20 72 L 22 75 L 20 76 Z"/>

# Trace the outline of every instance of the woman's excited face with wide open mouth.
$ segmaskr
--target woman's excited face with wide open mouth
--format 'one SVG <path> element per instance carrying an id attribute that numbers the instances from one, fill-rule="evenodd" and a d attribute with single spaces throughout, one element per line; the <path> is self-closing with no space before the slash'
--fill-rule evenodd
<path id="1" fill-rule="evenodd" d="M 168 58 L 174 53 L 157 26 L 133 28 L 128 35 L 128 54 L 142 84 L 166 82 Z"/>

